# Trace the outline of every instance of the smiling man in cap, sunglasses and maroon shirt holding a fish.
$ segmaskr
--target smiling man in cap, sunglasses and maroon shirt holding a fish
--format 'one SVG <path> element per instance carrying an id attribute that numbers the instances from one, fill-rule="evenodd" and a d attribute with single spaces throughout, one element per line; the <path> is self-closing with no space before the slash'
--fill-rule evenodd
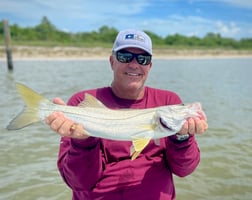
<path id="1" fill-rule="evenodd" d="M 144 32 L 119 32 L 110 64 L 114 73 L 111 87 L 80 91 L 69 99 L 68 105 L 77 106 L 85 93 L 111 109 L 181 103 L 174 92 L 144 85 L 152 67 L 152 42 Z M 57 98 L 54 102 L 64 104 Z M 130 141 L 89 137 L 85 126 L 75 124 L 62 113 L 53 113 L 46 121 L 62 136 L 58 168 L 74 200 L 175 199 L 172 174 L 184 177 L 195 170 L 200 152 L 194 134 L 208 128 L 204 116 L 189 118 L 179 133 L 161 138 L 160 144 L 151 141 L 132 161 Z"/>

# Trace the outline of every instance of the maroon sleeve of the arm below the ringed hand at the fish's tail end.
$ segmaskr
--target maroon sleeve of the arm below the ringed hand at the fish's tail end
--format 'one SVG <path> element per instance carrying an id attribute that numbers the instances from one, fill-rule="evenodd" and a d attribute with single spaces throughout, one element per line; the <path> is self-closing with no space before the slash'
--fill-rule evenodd
<path id="1" fill-rule="evenodd" d="M 58 169 L 73 190 L 91 190 L 102 174 L 100 140 L 61 138 Z"/>

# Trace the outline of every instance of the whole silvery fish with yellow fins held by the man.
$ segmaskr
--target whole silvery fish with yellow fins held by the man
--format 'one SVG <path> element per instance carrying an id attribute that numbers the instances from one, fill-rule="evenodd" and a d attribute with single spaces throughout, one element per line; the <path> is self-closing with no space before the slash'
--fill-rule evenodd
<path id="1" fill-rule="evenodd" d="M 188 117 L 203 113 L 200 103 L 112 110 L 89 94 L 85 94 L 85 100 L 78 107 L 57 105 L 21 83 L 17 83 L 16 87 L 26 106 L 10 122 L 8 130 L 24 128 L 60 111 L 82 124 L 90 136 L 132 141 L 132 159 L 140 154 L 151 139 L 173 135 L 182 128 Z"/>

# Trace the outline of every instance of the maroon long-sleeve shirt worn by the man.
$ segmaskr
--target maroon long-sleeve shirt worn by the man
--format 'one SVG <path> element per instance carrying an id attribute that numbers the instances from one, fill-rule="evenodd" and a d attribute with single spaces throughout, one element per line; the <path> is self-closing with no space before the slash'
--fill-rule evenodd
<path id="1" fill-rule="evenodd" d="M 144 109 L 180 104 L 173 92 L 145 87 L 140 100 L 116 97 L 110 87 L 81 91 L 68 105 L 77 106 L 89 93 L 111 109 Z M 104 127 L 105 129 L 106 127 Z M 89 137 L 61 138 L 58 168 L 73 191 L 74 200 L 169 200 L 175 199 L 173 174 L 192 173 L 200 160 L 195 138 L 179 142 L 175 136 L 151 141 L 140 156 L 131 160 L 131 141 Z"/>

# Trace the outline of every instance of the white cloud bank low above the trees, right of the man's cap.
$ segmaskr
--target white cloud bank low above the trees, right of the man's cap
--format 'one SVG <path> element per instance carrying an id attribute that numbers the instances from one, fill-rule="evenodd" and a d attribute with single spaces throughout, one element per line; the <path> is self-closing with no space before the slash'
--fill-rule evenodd
<path id="1" fill-rule="evenodd" d="M 181 34 L 204 37 L 207 33 L 219 33 L 222 37 L 244 38 L 251 36 L 251 24 L 211 20 L 199 16 L 170 15 L 163 19 L 151 19 L 145 23 L 136 22 L 143 30 L 159 33 L 160 36 Z M 155 24 L 155 26 L 153 26 Z"/>

